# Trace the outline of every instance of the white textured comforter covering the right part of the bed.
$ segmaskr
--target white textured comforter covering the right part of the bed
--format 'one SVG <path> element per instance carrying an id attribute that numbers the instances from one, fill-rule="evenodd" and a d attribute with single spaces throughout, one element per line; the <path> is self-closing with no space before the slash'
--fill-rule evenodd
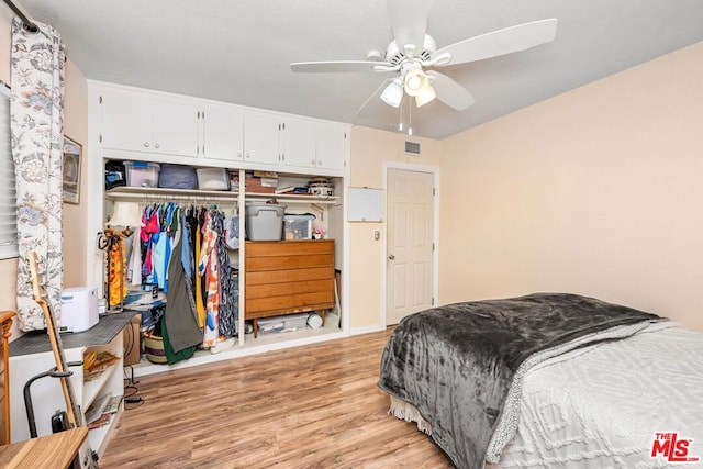
<path id="1" fill-rule="evenodd" d="M 533 368 L 520 424 L 488 468 L 703 467 L 703 334 L 676 323 L 570 351 Z M 657 433 L 689 440 L 668 460 Z"/>

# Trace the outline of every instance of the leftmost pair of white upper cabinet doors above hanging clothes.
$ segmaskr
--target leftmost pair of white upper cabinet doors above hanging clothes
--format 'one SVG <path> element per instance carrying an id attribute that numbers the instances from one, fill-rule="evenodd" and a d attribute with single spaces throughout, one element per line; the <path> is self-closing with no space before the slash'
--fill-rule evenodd
<path id="1" fill-rule="evenodd" d="M 100 93 L 103 148 L 198 155 L 198 109 L 189 101 L 120 90 Z"/>

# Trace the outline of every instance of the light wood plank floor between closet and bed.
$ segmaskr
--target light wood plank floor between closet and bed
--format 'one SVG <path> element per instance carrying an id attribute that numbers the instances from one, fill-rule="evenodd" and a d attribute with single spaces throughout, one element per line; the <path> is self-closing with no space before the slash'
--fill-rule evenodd
<path id="1" fill-rule="evenodd" d="M 104 468 L 451 468 L 387 413 L 378 369 L 390 332 L 137 379 Z"/>

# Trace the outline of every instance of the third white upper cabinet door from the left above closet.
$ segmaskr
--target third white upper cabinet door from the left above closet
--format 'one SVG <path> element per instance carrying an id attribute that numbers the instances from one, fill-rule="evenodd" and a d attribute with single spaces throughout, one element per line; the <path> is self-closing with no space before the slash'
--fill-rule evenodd
<path id="1" fill-rule="evenodd" d="M 244 158 L 244 113 L 234 107 L 201 107 L 200 155 L 205 158 L 242 161 Z"/>

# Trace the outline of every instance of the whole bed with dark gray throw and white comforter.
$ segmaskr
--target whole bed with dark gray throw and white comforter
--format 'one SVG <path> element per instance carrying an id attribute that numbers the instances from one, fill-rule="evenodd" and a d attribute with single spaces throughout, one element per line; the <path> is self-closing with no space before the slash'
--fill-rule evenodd
<path id="1" fill-rule="evenodd" d="M 390 413 L 458 468 L 696 467 L 703 334 L 567 293 L 405 317 L 383 350 Z"/>

